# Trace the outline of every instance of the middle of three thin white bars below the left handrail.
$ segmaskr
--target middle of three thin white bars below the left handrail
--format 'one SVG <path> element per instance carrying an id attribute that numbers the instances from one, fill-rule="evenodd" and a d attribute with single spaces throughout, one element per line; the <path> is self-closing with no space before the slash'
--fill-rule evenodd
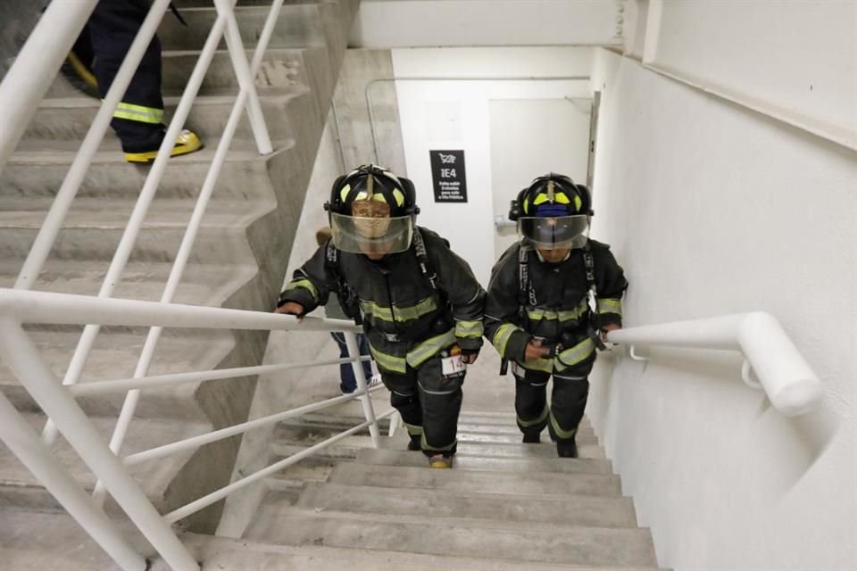
<path id="1" fill-rule="evenodd" d="M 381 385 L 373 386 L 369 389 L 369 392 L 372 393 L 374 391 L 379 390 L 380 388 L 382 388 Z M 285 410 L 283 412 L 278 412 L 267 417 L 255 418 L 254 420 L 248 420 L 246 422 L 242 422 L 241 424 L 227 426 L 226 428 L 220 428 L 220 430 L 212 430 L 212 432 L 206 434 L 191 436 L 190 438 L 178 440 L 174 443 L 164 444 L 156 448 L 150 448 L 146 451 L 129 454 L 128 456 L 122 459 L 122 463 L 125 466 L 136 466 L 137 464 L 142 464 L 143 462 L 163 458 L 164 456 L 170 456 L 171 454 L 175 454 L 177 452 L 196 449 L 204 444 L 214 443 L 219 440 L 223 440 L 224 438 L 229 438 L 229 436 L 235 436 L 236 434 L 244 434 L 245 432 L 253 430 L 254 428 L 262 428 L 262 426 L 268 426 L 271 424 L 278 423 L 280 420 L 300 417 L 301 415 L 304 415 L 308 412 L 315 412 L 316 410 L 327 409 L 342 402 L 351 401 L 356 396 L 363 394 L 365 390 L 366 389 L 362 389 L 362 392 L 358 393 L 357 391 L 361 391 L 361 389 L 357 389 L 357 391 L 351 394 L 343 394 L 342 396 L 327 399 L 326 401 L 313 402 L 312 404 L 307 404 L 303 407 L 298 407 L 296 409 Z M 368 394 L 366 394 L 365 396 L 369 397 Z M 369 420 L 367 420 L 366 422 L 370 423 Z"/>

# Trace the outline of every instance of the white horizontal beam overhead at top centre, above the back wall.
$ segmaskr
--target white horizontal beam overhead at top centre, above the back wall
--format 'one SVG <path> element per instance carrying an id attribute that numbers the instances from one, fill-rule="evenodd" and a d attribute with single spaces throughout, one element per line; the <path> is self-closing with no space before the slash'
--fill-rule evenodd
<path id="1" fill-rule="evenodd" d="M 605 46 L 620 0 L 362 0 L 348 46 Z"/>

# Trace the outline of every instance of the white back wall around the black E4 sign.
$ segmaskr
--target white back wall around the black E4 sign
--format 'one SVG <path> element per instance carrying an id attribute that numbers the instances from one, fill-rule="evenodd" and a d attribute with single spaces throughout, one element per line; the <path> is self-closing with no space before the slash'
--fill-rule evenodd
<path id="1" fill-rule="evenodd" d="M 591 54 L 590 48 L 580 47 L 418 48 L 394 50 L 393 69 L 397 77 L 588 77 Z M 588 97 L 589 81 L 396 83 L 405 163 L 421 209 L 418 221 L 445 236 L 487 285 L 495 262 L 495 193 L 504 194 L 502 202 L 508 204 L 517 190 L 544 174 L 521 163 L 520 175 L 514 180 L 492 179 L 490 104 L 502 99 Z M 503 137 L 533 145 L 530 132 L 510 132 Z M 588 128 L 581 137 L 588 137 Z M 468 203 L 434 203 L 428 161 L 431 149 L 464 150 Z"/>

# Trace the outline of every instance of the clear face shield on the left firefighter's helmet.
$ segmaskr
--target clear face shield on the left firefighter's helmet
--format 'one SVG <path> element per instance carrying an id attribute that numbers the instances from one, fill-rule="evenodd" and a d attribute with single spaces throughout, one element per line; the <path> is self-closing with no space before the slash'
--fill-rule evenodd
<path id="1" fill-rule="evenodd" d="M 345 216 L 331 212 L 330 228 L 333 245 L 343 252 L 404 252 L 411 247 L 413 237 L 413 220 L 410 216 Z"/>

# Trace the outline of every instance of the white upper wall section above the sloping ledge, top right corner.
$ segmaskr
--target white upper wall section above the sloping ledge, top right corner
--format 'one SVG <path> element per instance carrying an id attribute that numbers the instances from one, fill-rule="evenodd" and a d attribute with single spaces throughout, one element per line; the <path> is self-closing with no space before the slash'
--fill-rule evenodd
<path id="1" fill-rule="evenodd" d="M 857 148 L 857 2 L 658 4 L 647 62 Z"/>

